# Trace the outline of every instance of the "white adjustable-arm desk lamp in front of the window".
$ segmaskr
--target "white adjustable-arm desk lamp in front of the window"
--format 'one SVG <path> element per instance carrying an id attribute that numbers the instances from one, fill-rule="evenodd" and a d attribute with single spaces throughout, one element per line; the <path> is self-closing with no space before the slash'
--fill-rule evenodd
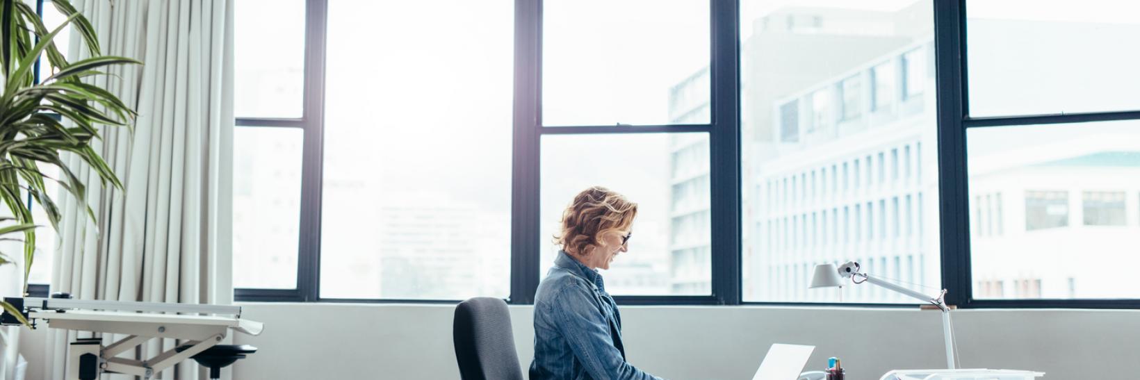
<path id="1" fill-rule="evenodd" d="M 943 289 L 936 297 L 928 297 L 921 292 L 899 287 L 879 278 L 870 276 L 865 272 L 860 272 L 860 265 L 856 262 L 847 262 L 838 269 L 836 269 L 836 264 L 830 263 L 816 265 L 815 275 L 812 276 L 812 286 L 809 288 L 842 287 L 844 280 L 841 278 L 850 279 L 855 284 L 870 282 L 871 284 L 918 298 L 938 307 L 938 309 L 942 311 L 942 333 L 946 341 L 946 369 L 954 369 L 954 336 L 950 329 L 950 306 L 947 306 L 945 301 L 945 289 Z"/>

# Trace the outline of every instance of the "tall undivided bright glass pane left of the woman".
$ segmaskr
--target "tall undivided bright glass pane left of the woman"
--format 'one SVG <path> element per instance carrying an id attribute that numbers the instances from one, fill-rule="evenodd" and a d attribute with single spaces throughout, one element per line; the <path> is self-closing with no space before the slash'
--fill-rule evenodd
<path id="1" fill-rule="evenodd" d="M 510 296 L 513 17 L 329 2 L 321 297 Z"/>

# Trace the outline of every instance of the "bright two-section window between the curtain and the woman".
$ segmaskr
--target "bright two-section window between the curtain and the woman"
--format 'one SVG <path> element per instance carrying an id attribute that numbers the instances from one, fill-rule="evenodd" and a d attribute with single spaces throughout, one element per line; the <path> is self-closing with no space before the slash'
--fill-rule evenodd
<path id="1" fill-rule="evenodd" d="M 513 5 L 235 14 L 237 298 L 508 297 Z"/>

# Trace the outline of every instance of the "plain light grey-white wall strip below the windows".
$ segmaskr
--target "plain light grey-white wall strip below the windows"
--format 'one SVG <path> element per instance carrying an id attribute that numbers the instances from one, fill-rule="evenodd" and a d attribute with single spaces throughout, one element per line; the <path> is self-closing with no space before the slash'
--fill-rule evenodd
<path id="1" fill-rule="evenodd" d="M 244 316 L 264 322 L 266 331 L 237 337 L 259 353 L 236 364 L 234 379 L 458 379 L 453 305 L 244 306 Z M 511 313 L 526 367 L 531 308 Z M 669 379 L 750 379 L 773 342 L 815 345 L 809 369 L 839 356 L 852 380 L 945 365 L 933 311 L 625 306 L 621 315 L 629 361 Z M 966 367 L 1115 379 L 1140 353 L 1140 311 L 969 309 L 953 320 Z"/>

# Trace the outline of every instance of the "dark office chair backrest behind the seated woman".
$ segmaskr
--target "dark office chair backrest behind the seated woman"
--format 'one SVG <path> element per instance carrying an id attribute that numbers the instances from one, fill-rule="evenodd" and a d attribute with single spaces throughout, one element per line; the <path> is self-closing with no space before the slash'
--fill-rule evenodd
<path id="1" fill-rule="evenodd" d="M 463 380 L 523 380 L 502 299 L 477 297 L 455 306 L 451 338 Z"/>

